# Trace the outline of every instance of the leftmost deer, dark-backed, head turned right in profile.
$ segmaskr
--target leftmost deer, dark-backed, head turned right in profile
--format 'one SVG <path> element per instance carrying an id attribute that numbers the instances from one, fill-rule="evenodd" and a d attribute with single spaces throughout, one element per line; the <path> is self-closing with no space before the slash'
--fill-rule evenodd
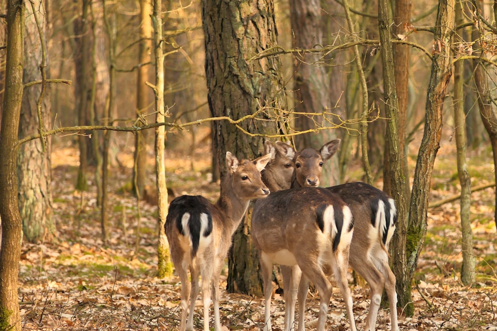
<path id="1" fill-rule="evenodd" d="M 221 330 L 221 268 L 231 246 L 233 233 L 247 211 L 249 200 L 265 198 L 269 194 L 260 175 L 269 158 L 270 155 L 264 155 L 253 161 L 239 161 L 227 152 L 228 174 L 221 183 L 221 193 L 216 204 L 201 196 L 181 196 L 170 203 L 165 230 L 172 262 L 181 280 L 180 331 L 193 330 L 193 309 L 199 290 L 199 274 L 202 275 L 204 331 L 209 331 L 211 291 L 215 330 Z M 188 282 L 188 269 L 191 284 Z M 188 296 L 190 309 L 186 321 Z"/>

